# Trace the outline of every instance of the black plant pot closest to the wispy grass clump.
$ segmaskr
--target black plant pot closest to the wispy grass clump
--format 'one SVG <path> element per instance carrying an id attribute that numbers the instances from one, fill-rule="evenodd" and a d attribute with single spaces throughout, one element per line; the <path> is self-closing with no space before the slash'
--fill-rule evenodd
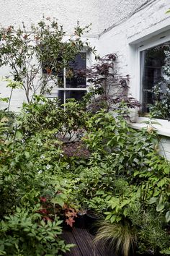
<path id="1" fill-rule="evenodd" d="M 99 221 L 102 220 L 102 216 L 95 213 L 93 210 L 87 210 L 86 213 L 86 228 L 89 229 L 90 234 L 96 235 L 99 229 Z"/>

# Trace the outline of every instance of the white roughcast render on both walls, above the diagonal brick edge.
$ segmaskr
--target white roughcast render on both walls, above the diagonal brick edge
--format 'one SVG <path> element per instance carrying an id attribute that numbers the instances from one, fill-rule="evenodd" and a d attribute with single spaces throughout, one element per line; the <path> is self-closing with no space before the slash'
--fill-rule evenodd
<path id="1" fill-rule="evenodd" d="M 97 35 L 113 24 L 129 17 L 151 0 L 1 0 L 1 26 L 26 25 L 45 17 L 56 17 L 70 33 L 76 21 L 92 23 L 91 34 Z M 109 17 L 109 18 L 108 18 Z"/>

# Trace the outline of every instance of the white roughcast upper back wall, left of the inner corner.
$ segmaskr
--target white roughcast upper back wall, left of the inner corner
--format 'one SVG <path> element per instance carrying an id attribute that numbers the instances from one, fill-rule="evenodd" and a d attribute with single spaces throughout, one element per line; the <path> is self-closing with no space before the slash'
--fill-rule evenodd
<path id="1" fill-rule="evenodd" d="M 98 0 L 1 0 L 0 24 L 19 25 L 23 21 L 29 27 L 31 22 L 37 22 L 45 17 L 55 17 L 70 33 L 77 20 L 81 25 L 93 23 L 91 33 L 98 33 L 99 19 Z"/>

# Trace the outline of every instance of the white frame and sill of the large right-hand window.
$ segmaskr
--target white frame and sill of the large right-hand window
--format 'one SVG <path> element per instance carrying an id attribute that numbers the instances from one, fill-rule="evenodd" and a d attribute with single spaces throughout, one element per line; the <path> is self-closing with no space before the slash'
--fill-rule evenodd
<path id="1" fill-rule="evenodd" d="M 133 80 L 133 96 L 140 102 L 140 93 L 141 93 L 141 84 L 140 84 L 140 53 L 148 48 L 152 48 L 154 46 L 158 46 L 161 43 L 165 43 L 170 41 L 170 31 L 166 31 L 164 33 L 159 33 L 152 38 L 147 40 L 141 40 L 140 43 L 133 45 L 133 51 L 135 52 L 135 58 L 133 56 L 133 66 L 132 68 L 135 70 L 134 80 Z M 137 114 L 137 118 L 135 119 L 135 123 L 132 125 L 136 129 L 141 129 L 142 127 L 146 127 L 146 124 L 143 124 L 143 121 L 147 121 L 146 117 L 139 117 Z M 154 119 L 160 125 L 154 124 L 153 127 L 156 128 L 158 134 L 170 137 L 170 121 L 165 119 Z"/>

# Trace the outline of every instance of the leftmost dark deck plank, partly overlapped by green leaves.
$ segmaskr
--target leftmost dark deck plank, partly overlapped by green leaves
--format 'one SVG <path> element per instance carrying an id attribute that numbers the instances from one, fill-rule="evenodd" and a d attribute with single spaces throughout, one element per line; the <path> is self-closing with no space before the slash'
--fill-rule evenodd
<path id="1" fill-rule="evenodd" d="M 71 252 L 66 252 L 64 254 L 65 256 L 83 256 L 71 231 L 64 231 L 62 238 L 66 241 L 67 244 L 76 244 L 76 247 L 71 248 Z"/>

